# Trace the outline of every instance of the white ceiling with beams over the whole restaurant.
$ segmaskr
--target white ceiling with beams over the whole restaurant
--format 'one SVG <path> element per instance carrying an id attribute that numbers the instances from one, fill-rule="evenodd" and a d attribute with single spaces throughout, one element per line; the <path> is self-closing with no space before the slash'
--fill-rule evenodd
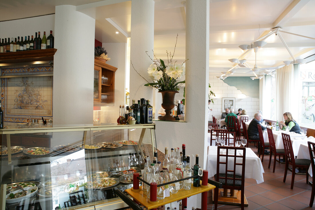
<path id="1" fill-rule="evenodd" d="M 119 3 L 117 3 L 119 2 Z M 173 51 L 179 34 L 173 60 L 185 59 L 186 17 L 183 0 L 155 0 L 154 53 L 166 58 L 166 50 Z M 113 4 L 114 3 L 114 4 Z M 131 1 L 125 0 L 0 0 L 0 21 L 54 13 L 56 5 L 76 5 L 77 10 L 95 18 L 95 38 L 103 43 L 127 42 L 131 30 Z M 36 9 L 34 9 L 36 8 Z M 284 31 L 315 37 L 314 0 L 210 0 L 210 74 L 233 67 L 228 61 L 239 58 L 240 44 L 250 44 L 281 26 Z M 13 12 L 14 11 L 14 12 Z M 120 32 L 116 34 L 115 32 Z M 281 33 L 295 59 L 315 54 L 315 40 Z M 275 34 L 257 52 L 258 67 L 282 65 L 292 60 L 281 40 Z M 253 50 L 252 50 L 253 51 Z M 255 53 L 246 54 L 249 67 L 255 64 Z M 235 76 L 244 76 L 245 68 L 236 68 Z M 241 73 L 241 74 L 240 74 Z M 245 74 L 253 76 L 252 73 Z"/>

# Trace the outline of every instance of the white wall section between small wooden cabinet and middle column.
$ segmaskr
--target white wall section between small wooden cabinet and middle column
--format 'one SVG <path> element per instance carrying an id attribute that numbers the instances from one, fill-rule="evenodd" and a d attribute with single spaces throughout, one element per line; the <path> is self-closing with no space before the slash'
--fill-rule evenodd
<path id="1" fill-rule="evenodd" d="M 109 106 L 106 106 L 106 107 L 101 107 L 101 110 L 119 111 L 119 105 L 125 104 L 127 44 L 126 43 L 103 43 L 102 47 L 105 48 L 105 50 L 107 51 L 108 57 L 111 58 L 111 60 L 106 61 L 106 64 L 117 67 L 118 69 L 115 72 L 114 104 L 110 104 Z M 132 100 L 130 100 L 130 103 L 132 103 Z"/>

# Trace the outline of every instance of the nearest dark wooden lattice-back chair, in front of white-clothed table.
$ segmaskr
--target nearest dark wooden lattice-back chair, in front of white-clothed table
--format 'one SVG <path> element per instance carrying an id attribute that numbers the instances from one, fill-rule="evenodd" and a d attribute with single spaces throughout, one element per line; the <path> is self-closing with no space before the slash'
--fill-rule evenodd
<path id="1" fill-rule="evenodd" d="M 221 150 L 221 152 L 220 152 Z M 222 152 L 224 151 L 225 152 Z M 231 151 L 232 150 L 232 151 Z M 240 154 L 241 151 L 241 154 Z M 221 154 L 222 153 L 222 154 Z M 246 148 L 240 147 L 218 147 L 217 172 L 215 180 L 222 183 L 223 196 L 227 196 L 230 190 L 230 197 L 234 197 L 234 190 L 241 190 L 241 209 L 244 209 L 244 186 L 245 186 L 245 156 Z M 224 173 L 220 173 L 225 169 Z M 222 170 L 221 170 L 222 171 Z M 238 173 L 238 172 L 240 173 Z M 218 208 L 219 188 L 214 190 L 215 210 Z"/>

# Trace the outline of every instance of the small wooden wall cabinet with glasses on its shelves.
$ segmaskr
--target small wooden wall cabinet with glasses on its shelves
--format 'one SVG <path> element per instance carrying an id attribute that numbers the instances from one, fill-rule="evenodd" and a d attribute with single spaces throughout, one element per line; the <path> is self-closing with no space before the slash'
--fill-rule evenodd
<path id="1" fill-rule="evenodd" d="M 114 103 L 116 70 L 116 67 L 94 60 L 94 105 L 104 106 Z M 102 84 L 102 75 L 107 78 L 107 84 Z"/>

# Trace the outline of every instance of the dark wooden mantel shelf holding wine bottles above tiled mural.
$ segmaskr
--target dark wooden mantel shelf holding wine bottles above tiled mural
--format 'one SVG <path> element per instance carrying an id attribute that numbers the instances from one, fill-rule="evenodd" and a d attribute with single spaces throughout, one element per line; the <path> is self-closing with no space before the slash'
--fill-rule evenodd
<path id="1" fill-rule="evenodd" d="M 0 54 L 0 63 L 23 63 L 33 61 L 53 61 L 57 49 L 29 50 Z"/>

